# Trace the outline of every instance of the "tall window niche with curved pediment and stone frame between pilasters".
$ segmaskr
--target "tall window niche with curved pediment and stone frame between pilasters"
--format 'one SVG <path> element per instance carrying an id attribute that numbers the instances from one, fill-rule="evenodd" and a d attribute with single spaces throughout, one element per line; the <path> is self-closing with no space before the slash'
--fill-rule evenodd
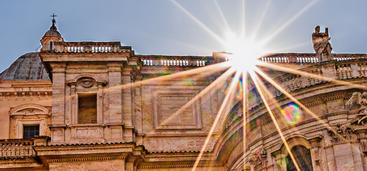
<path id="1" fill-rule="evenodd" d="M 71 125 L 103 124 L 103 87 L 107 82 L 80 76 L 66 83 L 70 88 Z"/>

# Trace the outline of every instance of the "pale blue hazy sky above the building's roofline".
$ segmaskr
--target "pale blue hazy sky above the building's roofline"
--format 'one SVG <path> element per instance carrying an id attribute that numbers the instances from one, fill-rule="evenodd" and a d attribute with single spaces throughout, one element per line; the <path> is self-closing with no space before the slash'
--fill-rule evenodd
<path id="1" fill-rule="evenodd" d="M 314 53 L 317 25 L 329 28 L 333 53 L 366 53 L 366 6 L 367 0 L 1 0 L 0 72 L 40 46 L 53 13 L 65 42 L 118 41 L 135 54 L 211 56 L 226 50 L 218 38 L 243 30 L 257 42 L 271 38 L 264 45 L 271 52 Z"/>

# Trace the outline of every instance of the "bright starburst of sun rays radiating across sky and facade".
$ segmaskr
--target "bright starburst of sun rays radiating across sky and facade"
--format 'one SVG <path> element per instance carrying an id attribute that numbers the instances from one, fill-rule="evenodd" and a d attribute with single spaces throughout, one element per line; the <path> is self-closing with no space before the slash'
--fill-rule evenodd
<path id="1" fill-rule="evenodd" d="M 248 32 L 246 32 L 245 29 L 245 0 L 242 1 L 242 21 L 241 21 L 241 31 L 236 33 L 231 31 L 232 29 L 230 28 L 224 14 L 222 13 L 222 10 L 220 8 L 220 5 L 214 1 L 219 14 L 223 20 L 223 23 L 225 25 L 225 27 L 227 28 L 227 32 L 224 34 L 224 39 L 222 39 L 222 37 L 218 36 L 216 33 L 214 33 L 212 30 L 210 30 L 209 27 L 207 27 L 205 24 L 203 24 L 198 18 L 196 18 L 194 15 L 192 15 L 188 10 L 186 10 L 182 5 L 180 5 L 176 0 L 171 0 L 173 2 L 173 4 L 175 4 L 177 7 L 179 7 L 179 9 L 181 9 L 190 19 L 192 19 L 195 23 L 197 23 L 202 29 L 204 29 L 207 34 L 211 35 L 215 40 L 217 40 L 219 43 L 221 43 L 224 47 L 224 55 L 226 57 L 226 61 L 228 62 L 223 62 L 217 66 L 214 66 L 216 69 L 218 66 L 222 66 L 222 67 L 229 67 L 229 69 L 222 74 L 217 80 L 215 80 L 213 83 L 211 83 L 209 86 L 207 86 L 206 88 L 204 88 L 199 94 L 197 94 L 192 100 L 190 100 L 189 102 L 187 102 L 182 108 L 180 108 L 174 115 L 172 115 L 172 117 L 170 119 L 174 119 L 175 116 L 178 113 L 181 113 L 186 107 L 190 106 L 190 104 L 192 104 L 193 101 L 199 100 L 205 93 L 210 92 L 209 90 L 211 90 L 212 88 L 215 88 L 215 85 L 217 85 L 217 83 L 222 83 L 223 81 L 225 81 L 226 78 L 232 78 L 231 81 L 227 82 L 226 84 L 230 85 L 229 88 L 226 90 L 226 95 L 224 97 L 224 100 L 222 101 L 222 103 L 220 104 L 220 108 L 217 112 L 217 115 L 215 117 L 215 120 L 208 132 L 208 135 L 204 141 L 204 144 L 200 150 L 199 155 L 196 158 L 196 161 L 192 167 L 191 171 L 195 171 L 196 168 L 199 165 L 199 162 L 201 161 L 201 158 L 204 154 L 205 151 L 208 151 L 207 146 L 209 144 L 209 141 L 211 140 L 211 137 L 214 133 L 214 129 L 218 127 L 218 125 L 220 125 L 220 119 L 221 118 L 225 118 L 226 115 L 228 115 L 228 113 L 225 112 L 225 107 L 228 106 L 229 104 L 231 104 L 233 102 L 232 100 L 232 94 L 236 94 L 237 92 L 241 92 L 241 88 L 242 88 L 242 103 L 243 103 L 243 114 L 242 114 L 242 119 L 243 119 L 243 144 L 244 147 L 246 147 L 246 124 L 248 121 L 246 121 L 246 115 L 248 115 L 249 111 L 248 109 L 246 109 L 246 101 L 248 99 L 246 99 L 246 93 L 247 91 L 250 90 L 251 87 L 254 87 L 255 90 L 257 91 L 257 93 L 261 96 L 261 100 L 263 102 L 263 105 L 265 105 L 266 110 L 268 111 L 269 115 L 271 116 L 271 120 L 273 121 L 274 126 L 276 127 L 276 130 L 279 134 L 279 137 L 281 138 L 282 142 L 284 143 L 287 152 L 289 153 L 293 164 L 296 167 L 297 171 L 300 171 L 300 167 L 297 164 L 297 161 L 295 160 L 290 147 L 288 146 L 288 143 L 283 135 L 282 129 L 281 127 L 278 125 L 278 121 L 275 118 L 275 116 L 273 115 L 272 112 L 272 104 L 277 103 L 277 101 L 275 99 L 267 99 L 266 96 L 271 96 L 271 92 L 265 87 L 264 85 L 264 80 L 265 79 L 267 82 L 269 82 L 271 85 L 273 85 L 275 88 L 277 88 L 279 91 L 281 91 L 283 94 L 286 95 L 286 97 L 288 97 L 289 99 L 291 99 L 294 103 L 290 103 L 288 106 L 284 106 L 284 108 L 281 110 L 281 113 L 284 117 L 284 120 L 286 121 L 287 124 L 289 125 L 294 125 L 294 124 L 298 124 L 300 122 L 302 122 L 302 113 L 301 113 L 301 109 L 305 110 L 306 113 L 309 113 L 312 117 L 314 117 L 320 124 L 325 125 L 327 128 L 329 127 L 327 124 L 323 123 L 315 114 L 313 114 L 309 109 L 306 108 L 306 106 L 304 106 L 302 103 L 300 103 L 295 97 L 293 97 L 289 92 L 287 92 L 281 85 L 278 85 L 278 83 L 276 83 L 275 81 L 273 81 L 270 77 L 268 77 L 266 75 L 266 73 L 264 73 L 260 68 L 258 68 L 258 66 L 265 66 L 268 68 L 272 68 L 272 69 L 276 69 L 276 68 L 281 68 L 281 66 L 278 65 L 274 65 L 274 64 L 270 64 L 270 63 L 265 63 L 261 60 L 262 57 L 267 56 L 267 54 L 270 54 L 270 52 L 274 52 L 274 51 L 279 51 L 279 50 L 275 50 L 275 49 L 266 49 L 265 45 L 268 44 L 272 39 L 274 39 L 277 35 L 279 35 L 279 33 L 281 33 L 282 31 L 284 31 L 284 29 L 286 27 L 288 27 L 294 20 L 296 20 L 301 14 L 303 14 L 310 6 L 312 6 L 317 0 L 313 0 L 310 3 L 308 3 L 308 5 L 306 5 L 303 9 L 301 9 L 298 13 L 296 13 L 294 16 L 292 16 L 287 22 L 285 22 L 284 24 L 281 25 L 281 27 L 279 27 L 277 30 L 273 31 L 270 35 L 265 36 L 265 38 L 259 40 L 255 40 L 256 35 L 258 33 L 258 29 L 260 28 L 263 18 L 265 16 L 265 13 L 268 9 L 269 4 L 271 3 L 270 0 L 268 1 L 268 3 L 265 6 L 265 10 L 257 24 L 257 26 L 255 27 L 256 29 L 254 30 L 254 32 L 252 34 L 249 34 Z M 235 29 L 236 30 L 236 29 Z M 302 43 L 301 45 L 303 45 L 304 43 Z M 298 44 L 297 46 L 299 46 L 300 44 Z M 291 48 L 293 46 L 289 46 L 287 48 Z M 209 69 L 206 68 L 208 66 L 204 66 L 205 69 Z M 303 72 L 303 71 L 290 71 L 291 69 L 289 68 L 282 68 L 278 71 L 288 71 L 290 73 L 292 72 L 302 72 L 302 74 L 306 74 L 307 76 L 310 76 L 310 73 L 307 72 Z M 198 69 L 193 69 L 191 70 L 190 74 L 192 73 L 197 73 Z M 300 73 L 299 73 L 300 74 Z M 173 74 L 175 75 L 175 74 Z M 260 77 L 259 77 L 260 76 Z M 312 77 L 312 76 L 310 76 Z M 318 78 L 319 76 L 313 76 L 315 78 Z M 330 78 L 323 78 L 325 80 L 330 79 Z M 149 80 L 145 80 L 145 81 L 149 81 Z M 340 81 L 339 81 L 340 82 Z M 239 88 L 240 87 L 240 88 Z M 240 97 L 240 96 L 237 96 Z M 239 100 L 241 98 L 237 98 L 236 100 Z M 269 100 L 270 103 L 267 101 Z M 246 148 L 243 149 L 243 154 L 244 154 L 244 164 L 246 163 L 246 158 L 248 158 L 248 153 L 246 152 Z M 245 166 L 243 166 L 243 169 L 245 169 Z"/>

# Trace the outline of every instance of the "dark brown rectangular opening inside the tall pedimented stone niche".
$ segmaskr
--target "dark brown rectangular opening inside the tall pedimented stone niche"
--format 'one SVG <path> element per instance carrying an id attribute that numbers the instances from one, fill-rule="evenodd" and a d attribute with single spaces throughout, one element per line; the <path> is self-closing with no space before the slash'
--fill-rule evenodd
<path id="1" fill-rule="evenodd" d="M 97 123 L 97 93 L 78 94 L 78 124 Z"/>

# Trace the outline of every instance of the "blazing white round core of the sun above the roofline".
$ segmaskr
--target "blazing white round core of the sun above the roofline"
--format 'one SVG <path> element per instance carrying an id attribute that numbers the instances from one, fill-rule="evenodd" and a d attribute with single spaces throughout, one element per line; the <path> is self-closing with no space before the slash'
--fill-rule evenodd
<path id="1" fill-rule="evenodd" d="M 266 54 L 262 43 L 234 32 L 226 33 L 224 46 L 231 66 L 243 73 L 253 71 L 260 64 L 258 59 Z"/>

